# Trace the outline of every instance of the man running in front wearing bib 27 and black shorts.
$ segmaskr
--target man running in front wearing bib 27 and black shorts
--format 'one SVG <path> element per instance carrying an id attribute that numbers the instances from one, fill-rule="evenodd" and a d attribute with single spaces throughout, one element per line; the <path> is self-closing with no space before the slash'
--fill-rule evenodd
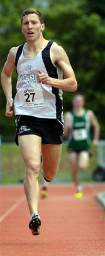
<path id="1" fill-rule="evenodd" d="M 24 45 L 10 49 L 1 82 L 6 95 L 6 116 L 16 115 L 16 143 L 26 166 L 24 188 L 31 214 L 29 228 L 40 233 L 38 215 L 40 155 L 43 176 L 52 181 L 62 149 L 62 90 L 74 92 L 77 82 L 62 47 L 43 37 L 45 24 L 40 11 L 29 8 L 21 15 Z M 16 96 L 12 98 L 11 75 L 16 68 Z M 62 76 L 63 75 L 63 76 Z"/>

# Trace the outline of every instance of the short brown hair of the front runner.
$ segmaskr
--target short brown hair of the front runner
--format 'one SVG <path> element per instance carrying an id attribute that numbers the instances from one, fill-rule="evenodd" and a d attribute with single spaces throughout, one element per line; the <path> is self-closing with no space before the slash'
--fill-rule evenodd
<path id="1" fill-rule="evenodd" d="M 25 15 L 30 15 L 31 13 L 35 13 L 36 15 L 38 15 L 41 24 L 44 22 L 43 15 L 40 13 L 40 11 L 34 8 L 28 8 L 28 9 L 25 9 L 25 11 L 23 11 L 23 13 L 21 14 L 21 23 L 23 23 L 23 17 Z"/>

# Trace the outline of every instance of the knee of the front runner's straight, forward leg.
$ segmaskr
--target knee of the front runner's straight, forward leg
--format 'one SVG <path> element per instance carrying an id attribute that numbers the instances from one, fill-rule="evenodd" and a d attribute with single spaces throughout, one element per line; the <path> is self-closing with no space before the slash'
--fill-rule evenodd
<path id="1" fill-rule="evenodd" d="M 34 160 L 28 160 L 25 162 L 26 171 L 30 173 L 39 173 L 40 171 L 40 162 Z"/>

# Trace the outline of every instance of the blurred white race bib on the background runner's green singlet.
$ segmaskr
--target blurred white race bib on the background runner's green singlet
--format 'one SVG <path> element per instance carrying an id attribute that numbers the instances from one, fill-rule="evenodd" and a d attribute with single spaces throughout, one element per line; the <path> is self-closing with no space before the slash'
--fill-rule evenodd
<path id="1" fill-rule="evenodd" d="M 74 140 L 86 140 L 87 139 L 87 131 L 84 128 L 80 128 L 73 131 Z"/>

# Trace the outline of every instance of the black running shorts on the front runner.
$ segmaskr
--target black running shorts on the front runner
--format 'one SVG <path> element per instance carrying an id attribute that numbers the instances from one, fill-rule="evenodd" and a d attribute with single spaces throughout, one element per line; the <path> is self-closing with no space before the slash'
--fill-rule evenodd
<path id="1" fill-rule="evenodd" d="M 16 144 L 18 136 L 35 134 L 41 137 L 43 144 L 61 144 L 63 142 L 64 123 L 61 119 L 36 118 L 34 116 L 16 116 Z"/>

